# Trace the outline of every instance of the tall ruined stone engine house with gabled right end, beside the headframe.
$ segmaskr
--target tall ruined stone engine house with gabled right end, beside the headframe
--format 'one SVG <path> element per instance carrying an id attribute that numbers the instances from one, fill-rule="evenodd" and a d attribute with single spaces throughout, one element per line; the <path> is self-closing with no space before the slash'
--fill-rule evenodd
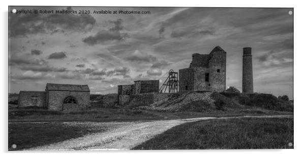
<path id="1" fill-rule="evenodd" d="M 193 54 L 189 68 L 178 73 L 182 91 L 222 92 L 226 88 L 226 52 L 217 46 L 209 54 Z"/>

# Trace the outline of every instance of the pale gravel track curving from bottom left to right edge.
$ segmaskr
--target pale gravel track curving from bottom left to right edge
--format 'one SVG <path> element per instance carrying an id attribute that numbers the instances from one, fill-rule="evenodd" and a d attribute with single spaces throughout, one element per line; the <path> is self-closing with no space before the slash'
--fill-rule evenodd
<path id="1" fill-rule="evenodd" d="M 293 117 L 292 115 L 261 115 L 240 117 Z M 65 122 L 67 125 L 95 125 L 96 127 L 111 127 L 103 133 L 88 134 L 83 137 L 69 139 L 63 142 L 38 146 L 27 150 L 109 150 L 131 149 L 134 146 L 153 138 L 155 135 L 188 122 L 211 119 L 230 119 L 235 117 L 198 117 L 194 119 L 151 121 L 151 122 Z"/>

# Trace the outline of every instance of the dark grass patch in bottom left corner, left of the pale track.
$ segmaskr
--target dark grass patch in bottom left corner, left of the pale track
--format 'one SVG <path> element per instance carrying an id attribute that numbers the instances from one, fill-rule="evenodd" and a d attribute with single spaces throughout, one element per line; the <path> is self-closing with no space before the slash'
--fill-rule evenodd
<path id="1" fill-rule="evenodd" d="M 85 134 L 102 132 L 105 128 L 68 126 L 63 123 L 16 123 L 9 124 L 9 150 L 21 150 L 60 142 Z M 17 147 L 12 148 L 15 144 Z"/>

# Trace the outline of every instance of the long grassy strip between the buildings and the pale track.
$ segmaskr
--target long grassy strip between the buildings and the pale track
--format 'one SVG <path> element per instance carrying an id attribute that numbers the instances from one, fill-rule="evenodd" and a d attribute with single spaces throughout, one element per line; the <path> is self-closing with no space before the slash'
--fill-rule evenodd
<path id="1" fill-rule="evenodd" d="M 272 111 L 260 108 L 244 108 L 235 110 L 181 111 L 163 112 L 154 110 L 121 108 L 90 108 L 80 111 L 60 112 L 44 109 L 9 110 L 9 122 L 55 122 L 55 121 L 143 121 L 188 119 L 203 116 L 234 116 L 263 114 L 293 114 L 293 112 Z"/>

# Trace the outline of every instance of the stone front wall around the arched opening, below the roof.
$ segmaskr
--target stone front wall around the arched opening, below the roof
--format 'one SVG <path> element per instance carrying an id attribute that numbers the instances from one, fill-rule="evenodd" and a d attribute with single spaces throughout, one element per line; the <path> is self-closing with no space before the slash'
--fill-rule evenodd
<path id="1" fill-rule="evenodd" d="M 65 98 L 68 96 L 74 97 L 78 104 L 89 105 L 89 92 L 81 91 L 47 91 L 48 109 L 50 110 L 63 110 Z"/>

